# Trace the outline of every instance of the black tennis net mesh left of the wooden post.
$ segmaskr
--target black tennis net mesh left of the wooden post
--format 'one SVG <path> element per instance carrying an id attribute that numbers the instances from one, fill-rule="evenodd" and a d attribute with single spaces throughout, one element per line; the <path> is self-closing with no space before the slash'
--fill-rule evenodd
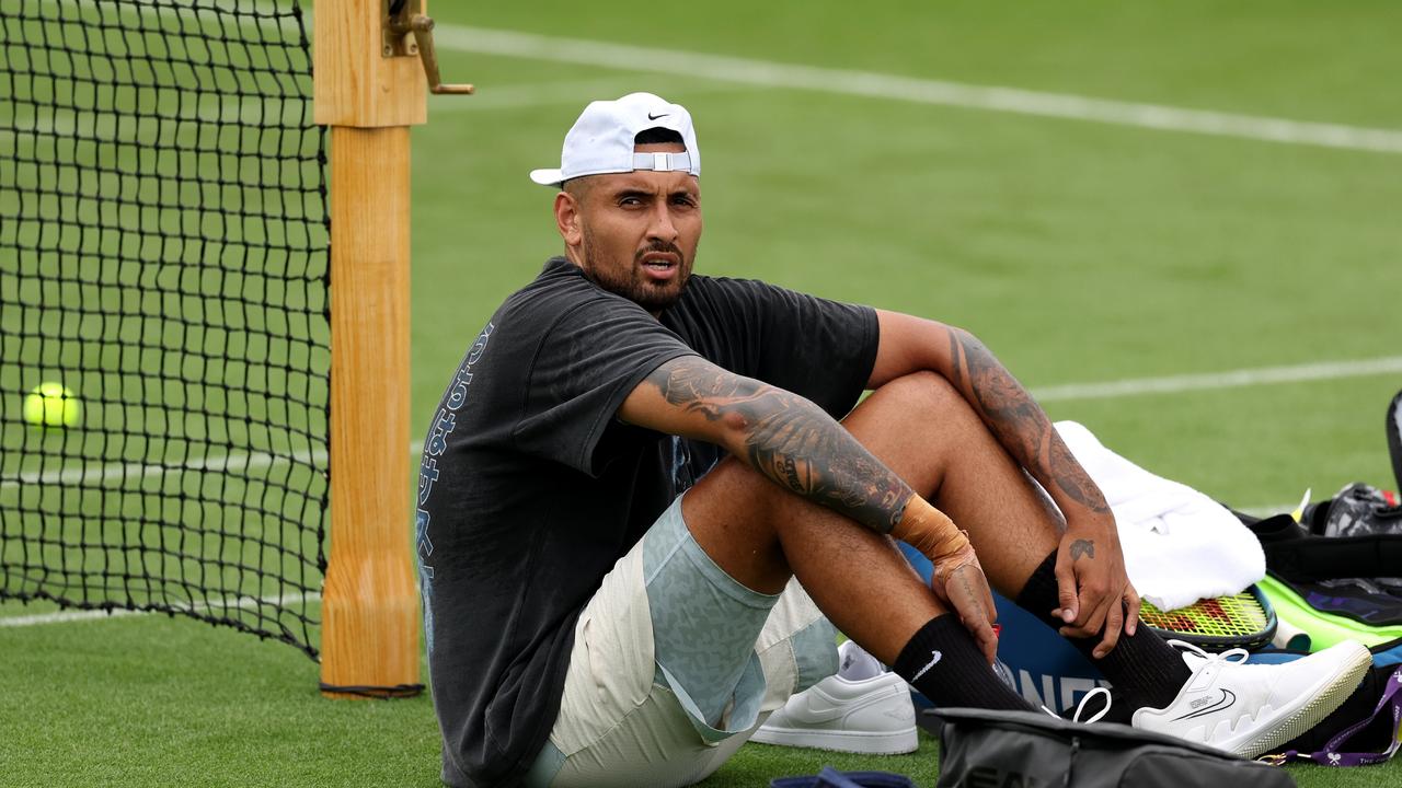
<path id="1" fill-rule="evenodd" d="M 331 353 L 306 21 L 0 0 L 0 597 L 315 656 Z"/>

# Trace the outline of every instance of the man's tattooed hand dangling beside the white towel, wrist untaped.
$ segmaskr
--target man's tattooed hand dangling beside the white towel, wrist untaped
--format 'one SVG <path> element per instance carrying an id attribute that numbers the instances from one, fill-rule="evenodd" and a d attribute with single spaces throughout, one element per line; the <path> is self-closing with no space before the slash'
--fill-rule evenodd
<path id="1" fill-rule="evenodd" d="M 1140 597 L 1124 573 L 1115 516 L 1109 513 L 1068 519 L 1057 545 L 1056 579 L 1061 607 L 1052 614 L 1073 638 L 1101 635 L 1092 656 L 1101 659 L 1138 627 Z"/>

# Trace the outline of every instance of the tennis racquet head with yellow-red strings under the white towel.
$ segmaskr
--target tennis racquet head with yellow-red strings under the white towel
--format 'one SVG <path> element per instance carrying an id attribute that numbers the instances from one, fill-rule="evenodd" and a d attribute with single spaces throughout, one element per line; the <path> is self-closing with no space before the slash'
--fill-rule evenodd
<path id="1" fill-rule="evenodd" d="M 1179 639 L 1203 651 L 1256 651 L 1276 637 L 1279 621 L 1266 595 L 1252 585 L 1241 593 L 1200 599 L 1168 613 L 1144 602 L 1140 621 L 1165 639 Z"/>

